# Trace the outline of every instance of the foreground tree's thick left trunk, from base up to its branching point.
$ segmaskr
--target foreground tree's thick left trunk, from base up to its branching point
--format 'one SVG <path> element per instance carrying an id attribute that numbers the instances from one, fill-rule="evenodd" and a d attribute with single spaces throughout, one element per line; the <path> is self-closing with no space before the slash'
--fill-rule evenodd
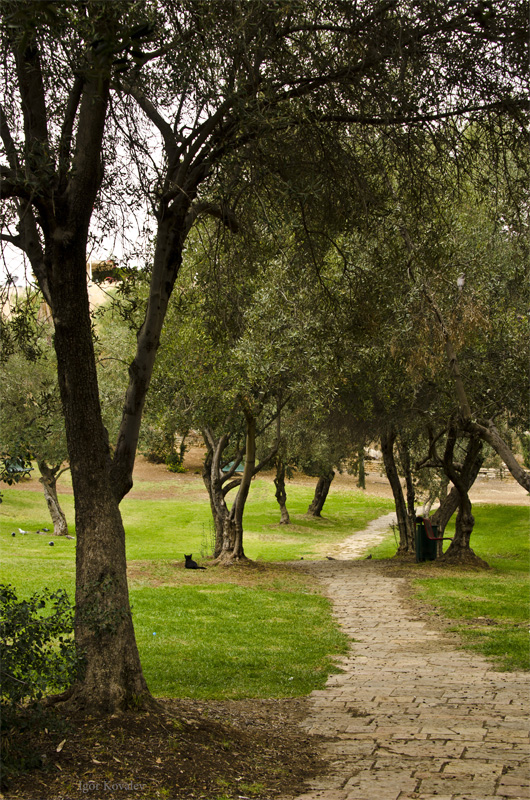
<path id="1" fill-rule="evenodd" d="M 125 531 L 111 488 L 84 247 L 60 248 L 53 272 L 55 349 L 75 498 L 75 636 L 85 657 L 70 702 L 90 712 L 110 713 L 151 698 L 129 605 Z"/>

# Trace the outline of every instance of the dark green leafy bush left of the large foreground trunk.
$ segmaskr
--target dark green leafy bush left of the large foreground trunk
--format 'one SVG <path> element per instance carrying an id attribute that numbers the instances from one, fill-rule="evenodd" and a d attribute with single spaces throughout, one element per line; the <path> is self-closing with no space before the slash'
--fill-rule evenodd
<path id="1" fill-rule="evenodd" d="M 46 692 L 69 686 L 80 661 L 66 592 L 44 589 L 19 600 L 11 585 L 2 584 L 0 646 L 2 703 L 39 700 Z"/>

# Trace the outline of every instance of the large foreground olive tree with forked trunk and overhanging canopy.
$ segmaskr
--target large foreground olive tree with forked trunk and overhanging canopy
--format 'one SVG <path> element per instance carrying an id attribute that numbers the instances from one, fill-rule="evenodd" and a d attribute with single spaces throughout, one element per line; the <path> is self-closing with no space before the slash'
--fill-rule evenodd
<path id="1" fill-rule="evenodd" d="M 480 4 L 452 0 L 3 0 L 1 238 L 29 260 L 53 317 L 76 507 L 75 631 L 86 656 L 72 694 L 79 705 L 109 712 L 149 702 L 119 502 L 132 485 L 187 237 L 204 214 L 237 226 L 227 187 L 215 191 L 220 166 L 240 156 L 236 179 L 251 143 L 305 125 L 389 131 L 448 115 L 522 113 L 524 88 L 514 76 L 524 74 L 524 6 L 501 3 L 485 15 Z M 106 216 L 117 205 L 120 137 L 131 145 L 134 180 L 150 189 L 156 243 L 111 456 L 86 261 L 94 207 Z M 110 173 L 116 180 L 106 182 Z"/>

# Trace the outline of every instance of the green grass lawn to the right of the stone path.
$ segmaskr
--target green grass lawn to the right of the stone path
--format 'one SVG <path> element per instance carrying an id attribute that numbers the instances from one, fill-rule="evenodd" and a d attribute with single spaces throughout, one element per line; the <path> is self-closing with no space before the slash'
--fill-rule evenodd
<path id="1" fill-rule="evenodd" d="M 466 646 L 491 658 L 501 670 L 530 668 L 530 509 L 476 505 L 471 547 L 490 565 L 484 572 L 414 564 L 421 600 L 455 620 Z M 447 528 L 451 536 L 454 525 Z M 444 544 L 445 548 L 445 544 Z M 375 558 L 395 553 L 393 537 L 372 551 Z"/>

